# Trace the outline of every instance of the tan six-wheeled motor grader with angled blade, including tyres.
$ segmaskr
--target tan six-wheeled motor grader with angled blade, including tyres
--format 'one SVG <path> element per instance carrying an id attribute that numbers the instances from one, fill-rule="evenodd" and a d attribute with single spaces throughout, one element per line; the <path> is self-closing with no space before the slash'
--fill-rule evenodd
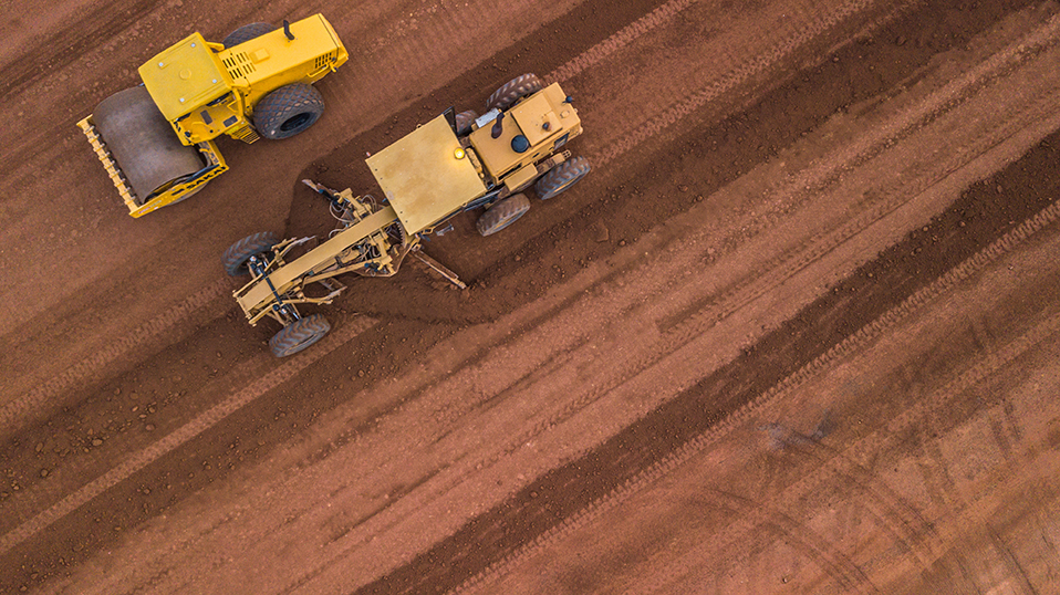
<path id="1" fill-rule="evenodd" d="M 252 275 L 233 293 L 236 302 L 251 325 L 271 317 L 283 326 L 269 345 L 284 357 L 331 328 L 320 314 L 303 317 L 297 306 L 331 303 L 345 289 L 336 275 L 391 276 L 412 255 L 463 289 L 420 242 L 475 209 L 485 209 L 479 233 L 496 233 L 530 209 L 522 190 L 531 184 L 540 199 L 550 199 L 588 174 L 584 157 L 561 150 L 582 132 L 572 102 L 558 83 L 544 86 L 524 74 L 497 90 L 480 117 L 449 108 L 366 159 L 383 190 L 378 200 L 303 180 L 331 202 L 337 228 L 312 249 L 314 237 L 279 241 L 269 232 L 233 243 L 221 257 L 225 269 Z M 310 285 L 316 296 L 306 293 Z"/>

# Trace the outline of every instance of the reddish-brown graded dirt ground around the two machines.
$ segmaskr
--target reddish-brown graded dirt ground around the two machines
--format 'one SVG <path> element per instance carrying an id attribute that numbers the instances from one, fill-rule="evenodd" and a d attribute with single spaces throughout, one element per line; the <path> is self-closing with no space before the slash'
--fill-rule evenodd
<path id="1" fill-rule="evenodd" d="M 77 119 L 323 12 L 280 143 L 134 220 Z M 9 7 L 0 593 L 1060 593 L 1060 6 Z M 284 361 L 218 255 L 523 72 L 593 171 L 347 279 Z"/>

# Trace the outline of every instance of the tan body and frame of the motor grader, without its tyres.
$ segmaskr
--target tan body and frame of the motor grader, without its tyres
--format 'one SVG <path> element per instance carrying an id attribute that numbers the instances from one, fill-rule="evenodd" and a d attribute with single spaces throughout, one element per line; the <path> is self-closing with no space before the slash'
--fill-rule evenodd
<path id="1" fill-rule="evenodd" d="M 291 249 L 312 238 L 284 240 L 269 250 L 272 255 L 267 261 L 252 260 L 252 279 L 233 292 L 250 324 L 272 317 L 287 326 L 298 317 L 287 305 L 328 304 L 345 289 L 331 278 L 346 272 L 389 276 L 409 253 L 464 288 L 451 271 L 419 253 L 422 236 L 466 209 L 488 207 L 529 186 L 570 158 L 560 147 L 582 132 L 578 111 L 555 83 L 515 104 L 508 113 L 511 121 L 499 138 L 477 124 L 468 136 L 458 137 L 446 117 L 438 116 L 370 156 L 366 163 L 387 201 L 377 210 L 374 200 L 354 197 L 350 189 L 335 192 L 303 180 L 328 195 L 350 219 L 343 219 L 346 227 L 328 241 L 290 262 Z M 511 145 L 516 134 L 524 134 L 536 144 L 523 154 L 516 153 Z M 499 176 L 484 167 L 487 160 L 501 170 Z M 392 226 L 402 231 L 399 242 L 386 232 Z M 354 262 L 355 252 L 362 258 Z M 366 253 L 371 258 L 365 258 Z M 308 296 L 304 289 L 312 283 L 322 283 L 330 293 Z"/>

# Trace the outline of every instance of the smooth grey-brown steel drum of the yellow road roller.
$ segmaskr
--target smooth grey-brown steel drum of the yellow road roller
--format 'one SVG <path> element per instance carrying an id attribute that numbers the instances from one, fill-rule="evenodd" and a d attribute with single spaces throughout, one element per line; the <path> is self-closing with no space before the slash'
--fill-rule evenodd
<path id="1" fill-rule="evenodd" d="M 118 174 L 132 187 L 137 205 L 146 202 L 156 189 L 186 179 L 206 165 L 195 147 L 180 144 L 143 86 L 103 100 L 92 115 L 92 124 Z M 92 140 L 91 135 L 89 138 Z"/>

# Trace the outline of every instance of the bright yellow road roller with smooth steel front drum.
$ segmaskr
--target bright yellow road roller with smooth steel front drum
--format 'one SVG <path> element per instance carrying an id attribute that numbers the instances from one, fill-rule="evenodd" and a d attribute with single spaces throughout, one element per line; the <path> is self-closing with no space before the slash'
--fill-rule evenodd
<path id="1" fill-rule="evenodd" d="M 314 14 L 282 29 L 243 25 L 221 43 L 193 33 L 144 63 L 143 84 L 77 123 L 133 217 L 179 202 L 228 170 L 217 144 L 288 138 L 324 102 L 312 85 L 349 59 Z"/>

